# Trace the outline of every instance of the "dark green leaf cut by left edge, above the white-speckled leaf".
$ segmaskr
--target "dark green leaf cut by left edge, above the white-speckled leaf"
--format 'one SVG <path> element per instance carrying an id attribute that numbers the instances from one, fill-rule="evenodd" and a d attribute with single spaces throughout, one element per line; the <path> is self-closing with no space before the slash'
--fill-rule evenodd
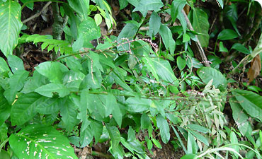
<path id="1" fill-rule="evenodd" d="M 0 91 L 0 126 L 6 122 L 6 119 L 10 116 L 11 105 L 4 98 L 3 91 Z M 1 136 L 1 135 L 0 135 Z"/>

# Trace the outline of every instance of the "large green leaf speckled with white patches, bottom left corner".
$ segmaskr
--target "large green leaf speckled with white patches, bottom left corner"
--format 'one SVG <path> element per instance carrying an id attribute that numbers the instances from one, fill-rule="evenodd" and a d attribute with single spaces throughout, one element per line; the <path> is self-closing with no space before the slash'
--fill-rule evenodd
<path id="1" fill-rule="evenodd" d="M 77 158 L 68 139 L 52 126 L 26 126 L 11 134 L 9 143 L 18 158 Z"/>

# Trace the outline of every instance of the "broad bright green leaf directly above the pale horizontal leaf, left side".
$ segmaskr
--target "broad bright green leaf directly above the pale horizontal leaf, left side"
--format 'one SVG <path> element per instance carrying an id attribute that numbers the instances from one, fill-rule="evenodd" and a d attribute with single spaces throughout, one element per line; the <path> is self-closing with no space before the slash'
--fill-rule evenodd
<path id="1" fill-rule="evenodd" d="M 59 62 L 46 61 L 35 67 L 43 76 L 46 76 L 52 83 L 62 83 L 64 73 L 68 71 L 67 66 Z"/>

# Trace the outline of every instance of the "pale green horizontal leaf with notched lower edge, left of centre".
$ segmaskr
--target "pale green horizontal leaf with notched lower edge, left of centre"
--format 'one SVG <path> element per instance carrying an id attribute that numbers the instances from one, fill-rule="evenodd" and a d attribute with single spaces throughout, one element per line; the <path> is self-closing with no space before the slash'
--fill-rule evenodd
<path id="1" fill-rule="evenodd" d="M 60 98 L 64 98 L 70 93 L 66 86 L 58 83 L 49 83 L 47 85 L 40 86 L 40 88 L 35 89 L 35 92 L 49 98 L 52 98 L 55 93 L 58 93 Z"/>

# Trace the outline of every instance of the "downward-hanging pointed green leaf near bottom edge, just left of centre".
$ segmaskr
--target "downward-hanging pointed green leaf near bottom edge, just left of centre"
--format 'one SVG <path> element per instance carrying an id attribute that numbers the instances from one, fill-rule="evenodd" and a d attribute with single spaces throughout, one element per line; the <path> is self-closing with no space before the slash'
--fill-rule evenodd
<path id="1" fill-rule="evenodd" d="M 115 126 L 109 126 L 108 124 L 106 124 L 106 129 L 108 130 L 108 134 L 110 136 L 111 139 L 111 146 L 113 151 L 115 151 L 115 149 L 118 147 L 118 144 L 120 142 L 120 132 L 118 131 L 118 128 Z"/>

